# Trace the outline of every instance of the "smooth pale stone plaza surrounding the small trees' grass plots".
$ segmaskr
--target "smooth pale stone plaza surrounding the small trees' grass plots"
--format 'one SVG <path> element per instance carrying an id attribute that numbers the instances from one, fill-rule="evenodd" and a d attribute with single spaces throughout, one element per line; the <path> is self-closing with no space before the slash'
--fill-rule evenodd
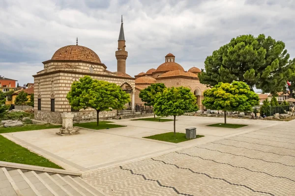
<path id="1" fill-rule="evenodd" d="M 129 119 L 112 121 L 127 126 L 103 130 L 81 129 L 80 134 L 71 136 L 57 135 L 56 132 L 59 132 L 59 129 L 13 132 L 2 135 L 41 154 L 64 169 L 92 172 L 283 123 L 228 119 L 228 123 L 249 124 L 238 129 L 228 129 L 206 126 L 212 123 L 222 123 L 223 118 L 181 116 L 177 117 L 178 132 L 185 132 L 185 128 L 195 126 L 197 134 L 206 137 L 174 144 L 143 138 L 173 131 L 173 122 L 158 123 L 130 121 Z"/>

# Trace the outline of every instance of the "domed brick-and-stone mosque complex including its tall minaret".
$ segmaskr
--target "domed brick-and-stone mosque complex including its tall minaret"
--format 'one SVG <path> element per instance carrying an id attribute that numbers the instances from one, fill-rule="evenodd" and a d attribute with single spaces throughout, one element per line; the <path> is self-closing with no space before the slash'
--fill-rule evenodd
<path id="1" fill-rule="evenodd" d="M 191 68 L 188 72 L 175 62 L 171 53 L 165 57 L 165 62 L 157 69 L 150 69 L 147 73 L 139 73 L 131 77 L 126 73 L 126 51 L 123 20 L 118 37 L 118 48 L 115 52 L 117 58 L 117 72 L 110 72 L 102 63 L 99 56 L 91 49 L 78 45 L 69 45 L 58 49 L 50 60 L 44 61 L 43 70 L 34 77 L 34 117 L 37 120 L 50 123 L 62 123 L 61 113 L 73 112 L 74 122 L 96 119 L 93 109 L 74 110 L 66 99 L 71 84 L 79 78 L 89 75 L 93 79 L 104 80 L 119 85 L 130 94 L 131 102 L 128 104 L 134 109 L 135 104 L 143 104 L 139 93 L 152 83 L 162 82 L 167 87 L 185 86 L 191 89 L 198 97 L 201 105 L 203 91 L 207 87 L 200 83 L 198 68 Z M 110 119 L 117 116 L 117 111 L 100 112 L 100 119 Z"/>

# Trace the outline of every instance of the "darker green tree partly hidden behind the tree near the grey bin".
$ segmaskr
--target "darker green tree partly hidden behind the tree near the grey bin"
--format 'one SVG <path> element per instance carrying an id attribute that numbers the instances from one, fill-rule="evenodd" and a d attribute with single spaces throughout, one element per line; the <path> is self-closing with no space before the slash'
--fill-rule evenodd
<path id="1" fill-rule="evenodd" d="M 145 105 L 147 106 L 153 106 L 155 104 L 155 97 L 158 93 L 163 93 L 164 89 L 166 89 L 165 84 L 163 83 L 155 83 L 151 84 L 144 90 L 141 90 L 139 93 L 139 98 L 142 99 L 143 102 L 145 102 Z M 154 118 L 156 116 L 154 115 Z"/>

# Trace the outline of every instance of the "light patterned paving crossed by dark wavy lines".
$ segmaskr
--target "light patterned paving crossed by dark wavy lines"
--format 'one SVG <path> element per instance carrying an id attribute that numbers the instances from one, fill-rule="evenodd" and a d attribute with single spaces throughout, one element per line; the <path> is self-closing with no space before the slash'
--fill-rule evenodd
<path id="1" fill-rule="evenodd" d="M 295 122 L 89 173 L 110 196 L 295 196 Z"/>

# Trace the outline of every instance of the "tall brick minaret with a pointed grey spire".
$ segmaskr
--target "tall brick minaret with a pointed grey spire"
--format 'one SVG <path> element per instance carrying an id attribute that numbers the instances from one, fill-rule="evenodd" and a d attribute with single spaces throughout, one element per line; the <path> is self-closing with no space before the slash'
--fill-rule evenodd
<path id="1" fill-rule="evenodd" d="M 126 59 L 128 52 L 125 51 L 125 36 L 123 29 L 123 16 L 121 16 L 121 29 L 118 39 L 118 50 L 116 51 L 117 72 L 126 73 Z"/>

